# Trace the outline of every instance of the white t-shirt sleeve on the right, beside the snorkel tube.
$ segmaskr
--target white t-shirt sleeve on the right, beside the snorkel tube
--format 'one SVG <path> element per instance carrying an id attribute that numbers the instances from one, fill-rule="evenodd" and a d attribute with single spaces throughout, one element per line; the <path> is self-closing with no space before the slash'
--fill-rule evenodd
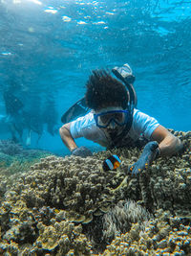
<path id="1" fill-rule="evenodd" d="M 153 131 L 159 127 L 159 122 L 154 117 L 135 109 L 133 126 L 138 134 L 143 134 L 146 139 L 150 139 Z"/>

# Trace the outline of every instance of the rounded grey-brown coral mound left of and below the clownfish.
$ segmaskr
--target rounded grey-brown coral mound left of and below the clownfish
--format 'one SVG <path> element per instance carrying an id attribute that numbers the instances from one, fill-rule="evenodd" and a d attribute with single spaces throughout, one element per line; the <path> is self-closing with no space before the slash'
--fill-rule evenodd
<path id="1" fill-rule="evenodd" d="M 102 171 L 101 161 L 96 157 L 50 156 L 32 169 L 33 172 L 25 176 L 22 190 L 29 207 L 52 205 L 67 209 L 70 221 L 87 223 L 98 210 L 106 212 L 115 199 L 107 188 L 111 175 Z"/>

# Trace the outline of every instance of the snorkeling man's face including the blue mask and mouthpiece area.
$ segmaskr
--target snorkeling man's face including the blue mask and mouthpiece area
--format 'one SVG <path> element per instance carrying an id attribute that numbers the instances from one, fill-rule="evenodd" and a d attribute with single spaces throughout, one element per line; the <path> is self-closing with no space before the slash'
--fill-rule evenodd
<path id="1" fill-rule="evenodd" d="M 111 137 L 117 136 L 127 123 L 127 113 L 121 106 L 108 106 L 96 111 L 96 125 Z"/>

